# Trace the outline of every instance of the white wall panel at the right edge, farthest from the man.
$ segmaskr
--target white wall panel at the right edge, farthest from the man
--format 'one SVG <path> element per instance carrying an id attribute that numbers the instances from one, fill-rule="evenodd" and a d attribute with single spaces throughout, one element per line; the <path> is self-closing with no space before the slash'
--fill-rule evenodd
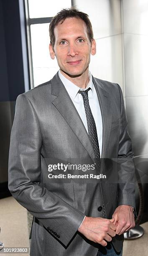
<path id="1" fill-rule="evenodd" d="M 124 34 L 126 96 L 148 95 L 148 36 Z"/>

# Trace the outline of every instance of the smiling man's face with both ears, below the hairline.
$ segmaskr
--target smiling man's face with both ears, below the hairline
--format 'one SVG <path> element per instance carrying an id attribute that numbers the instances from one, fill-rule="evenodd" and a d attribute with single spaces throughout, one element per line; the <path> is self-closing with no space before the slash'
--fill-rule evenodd
<path id="1" fill-rule="evenodd" d="M 90 53 L 96 53 L 96 45 L 87 35 L 87 27 L 83 20 L 66 18 L 62 24 L 54 28 L 54 48 L 49 45 L 51 59 L 56 59 L 64 73 L 79 76 L 88 71 Z"/>

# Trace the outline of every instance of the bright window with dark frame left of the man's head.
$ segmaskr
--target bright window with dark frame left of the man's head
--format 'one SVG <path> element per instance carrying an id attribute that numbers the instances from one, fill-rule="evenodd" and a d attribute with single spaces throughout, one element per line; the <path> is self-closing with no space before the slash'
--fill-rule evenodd
<path id="1" fill-rule="evenodd" d="M 49 55 L 49 23 L 58 11 L 71 5 L 70 0 L 25 0 L 31 88 L 50 80 L 59 70 L 56 59 Z"/>

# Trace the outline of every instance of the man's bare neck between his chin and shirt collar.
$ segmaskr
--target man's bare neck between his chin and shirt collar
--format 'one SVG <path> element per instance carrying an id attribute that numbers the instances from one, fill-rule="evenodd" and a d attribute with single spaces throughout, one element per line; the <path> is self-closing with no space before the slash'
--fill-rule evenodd
<path id="1" fill-rule="evenodd" d="M 60 69 L 61 74 L 64 75 L 69 81 L 71 81 L 73 84 L 77 85 L 80 88 L 85 89 L 87 87 L 87 84 L 89 83 L 89 72 L 88 69 L 80 75 L 70 75 L 63 70 Z"/>

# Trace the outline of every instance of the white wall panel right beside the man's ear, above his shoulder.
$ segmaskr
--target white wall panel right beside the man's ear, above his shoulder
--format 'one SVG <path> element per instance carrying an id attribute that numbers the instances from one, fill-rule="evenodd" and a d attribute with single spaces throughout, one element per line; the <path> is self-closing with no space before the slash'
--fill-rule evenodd
<path id="1" fill-rule="evenodd" d="M 91 56 L 89 69 L 94 77 L 116 82 L 123 90 L 122 36 L 110 36 L 96 40 L 97 53 Z"/>

